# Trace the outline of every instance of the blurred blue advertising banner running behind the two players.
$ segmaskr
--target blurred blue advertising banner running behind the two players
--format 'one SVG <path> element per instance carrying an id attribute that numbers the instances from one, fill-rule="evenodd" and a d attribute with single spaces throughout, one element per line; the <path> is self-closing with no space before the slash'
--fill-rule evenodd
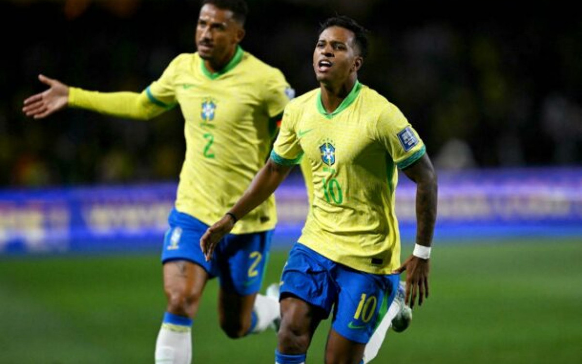
<path id="1" fill-rule="evenodd" d="M 0 253 L 159 249 L 175 183 L 0 191 Z M 414 238 L 416 186 L 400 174 L 396 214 Z M 308 213 L 300 175 L 276 191 L 274 243 L 289 246 Z M 582 168 L 439 172 L 435 239 L 572 235 L 582 242 Z"/>

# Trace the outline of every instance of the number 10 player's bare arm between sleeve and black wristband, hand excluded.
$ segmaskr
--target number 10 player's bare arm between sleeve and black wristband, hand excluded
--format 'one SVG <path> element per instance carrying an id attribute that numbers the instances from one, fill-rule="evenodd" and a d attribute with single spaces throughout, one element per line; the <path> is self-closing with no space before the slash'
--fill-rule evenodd
<path id="1" fill-rule="evenodd" d="M 278 165 L 272 160 L 268 160 L 265 167 L 261 168 L 249 188 L 229 212 L 235 214 L 237 219 L 243 218 L 275 192 L 290 170 L 291 167 Z"/>

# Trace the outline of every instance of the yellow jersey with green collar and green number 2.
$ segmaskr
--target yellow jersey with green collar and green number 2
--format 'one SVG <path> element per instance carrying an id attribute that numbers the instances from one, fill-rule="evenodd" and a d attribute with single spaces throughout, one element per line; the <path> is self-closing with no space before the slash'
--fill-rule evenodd
<path id="1" fill-rule="evenodd" d="M 221 72 L 203 59 L 182 54 L 145 91 L 152 103 L 179 104 L 184 115 L 186 158 L 180 172 L 176 209 L 205 224 L 219 220 L 265 164 L 292 89 L 276 68 L 237 48 Z M 233 234 L 273 229 L 275 199 L 270 197 L 242 218 Z"/>

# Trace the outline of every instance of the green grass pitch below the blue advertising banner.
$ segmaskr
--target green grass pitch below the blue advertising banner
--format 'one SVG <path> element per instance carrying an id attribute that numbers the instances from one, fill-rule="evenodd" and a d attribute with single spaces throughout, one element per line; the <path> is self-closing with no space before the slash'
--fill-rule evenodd
<path id="1" fill-rule="evenodd" d="M 278 281 L 285 258 L 272 253 L 265 282 Z M 581 262 L 582 239 L 438 246 L 430 298 L 374 362 L 581 363 Z M 274 333 L 226 338 L 216 298 L 211 282 L 194 323 L 194 362 L 273 363 Z M 152 363 L 164 306 L 157 254 L 0 256 L 0 363 Z M 308 362 L 323 362 L 328 328 L 318 329 Z"/>

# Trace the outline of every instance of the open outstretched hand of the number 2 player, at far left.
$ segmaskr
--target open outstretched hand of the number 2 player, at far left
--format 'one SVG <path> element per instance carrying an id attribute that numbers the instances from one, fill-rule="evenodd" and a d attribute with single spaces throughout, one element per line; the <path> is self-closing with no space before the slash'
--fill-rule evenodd
<path id="1" fill-rule="evenodd" d="M 38 75 L 38 80 L 47 84 L 49 89 L 24 100 L 22 111 L 26 116 L 42 119 L 66 107 L 69 101 L 69 86 L 42 75 Z"/>

